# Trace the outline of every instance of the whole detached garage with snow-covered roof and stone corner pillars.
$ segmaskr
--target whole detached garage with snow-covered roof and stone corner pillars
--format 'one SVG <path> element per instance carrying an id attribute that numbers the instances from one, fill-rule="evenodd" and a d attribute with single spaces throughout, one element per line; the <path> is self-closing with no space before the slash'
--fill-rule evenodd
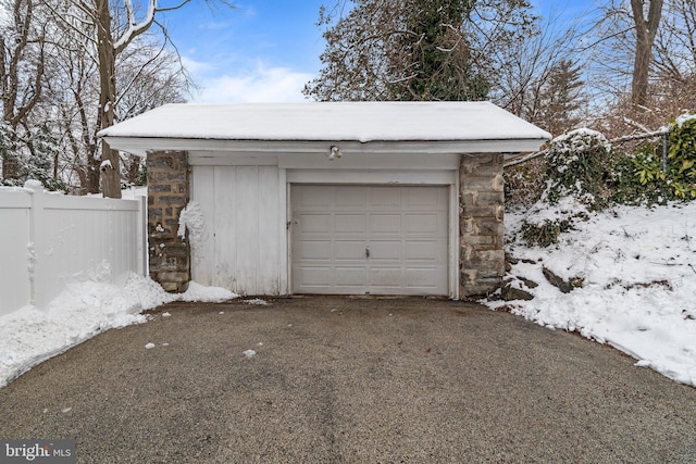
<path id="1" fill-rule="evenodd" d="M 147 159 L 170 291 L 452 299 L 500 284 L 504 161 L 550 139 L 489 102 L 166 104 L 99 135 Z"/>

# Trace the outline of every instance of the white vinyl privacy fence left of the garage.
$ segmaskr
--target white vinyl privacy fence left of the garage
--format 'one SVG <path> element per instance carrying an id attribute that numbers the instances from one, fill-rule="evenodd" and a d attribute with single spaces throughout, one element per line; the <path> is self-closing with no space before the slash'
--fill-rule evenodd
<path id="1" fill-rule="evenodd" d="M 145 202 L 0 189 L 0 316 L 46 309 L 71 281 L 145 275 Z"/>

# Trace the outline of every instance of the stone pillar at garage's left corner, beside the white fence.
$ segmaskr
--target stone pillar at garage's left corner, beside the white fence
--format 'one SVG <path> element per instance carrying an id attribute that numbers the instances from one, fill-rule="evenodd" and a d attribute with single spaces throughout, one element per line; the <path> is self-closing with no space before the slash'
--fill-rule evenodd
<path id="1" fill-rule="evenodd" d="M 190 250 L 182 240 L 178 216 L 190 199 L 189 167 L 184 151 L 149 152 L 148 254 L 150 277 L 166 291 L 185 291 L 190 280 Z"/>

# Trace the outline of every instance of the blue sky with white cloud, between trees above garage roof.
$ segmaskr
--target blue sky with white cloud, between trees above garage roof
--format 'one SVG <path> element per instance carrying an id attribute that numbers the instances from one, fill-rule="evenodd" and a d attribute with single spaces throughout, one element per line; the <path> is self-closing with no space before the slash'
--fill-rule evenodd
<path id="1" fill-rule="evenodd" d="M 198 102 L 302 101 L 321 68 L 325 42 L 315 23 L 333 0 L 233 0 L 235 10 L 202 2 L 167 13 L 164 23 L 198 85 Z M 160 2 L 162 7 L 163 2 Z M 592 0 L 532 0 L 568 21 Z"/>

